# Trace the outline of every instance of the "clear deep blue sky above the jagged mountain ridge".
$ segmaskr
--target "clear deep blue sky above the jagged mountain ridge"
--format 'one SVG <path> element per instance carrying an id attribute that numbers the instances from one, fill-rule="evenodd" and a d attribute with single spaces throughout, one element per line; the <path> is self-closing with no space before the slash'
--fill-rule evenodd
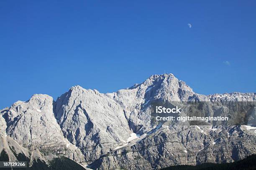
<path id="1" fill-rule="evenodd" d="M 164 70 L 197 93 L 256 92 L 256 1 L 2 0 L 0 108 Z M 187 24 L 190 23 L 192 28 Z"/>

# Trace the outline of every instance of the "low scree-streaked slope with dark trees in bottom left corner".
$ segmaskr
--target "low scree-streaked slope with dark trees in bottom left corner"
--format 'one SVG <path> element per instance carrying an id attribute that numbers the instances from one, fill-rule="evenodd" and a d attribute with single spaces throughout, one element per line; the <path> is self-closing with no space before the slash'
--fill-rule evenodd
<path id="1" fill-rule="evenodd" d="M 49 153 L 43 155 L 38 149 L 28 150 L 20 146 L 10 137 L 0 136 L 1 161 L 26 161 L 27 170 L 84 170 L 84 167 L 66 157 L 58 157 Z M 3 170 L 20 168 L 1 168 Z M 24 168 L 21 168 L 24 169 Z"/>

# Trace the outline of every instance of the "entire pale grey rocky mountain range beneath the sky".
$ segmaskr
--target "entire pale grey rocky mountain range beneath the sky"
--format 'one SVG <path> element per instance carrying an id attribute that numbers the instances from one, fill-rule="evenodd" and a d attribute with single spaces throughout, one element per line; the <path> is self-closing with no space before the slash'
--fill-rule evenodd
<path id="1" fill-rule="evenodd" d="M 172 74 L 107 94 L 74 86 L 56 101 L 39 94 L 1 110 L 0 136 L 15 140 L 27 155 L 36 150 L 48 165 L 52 157 L 68 158 L 91 169 L 230 163 L 256 154 L 252 126 L 151 121 L 154 102 L 173 101 L 255 102 L 256 93 L 200 95 Z"/>

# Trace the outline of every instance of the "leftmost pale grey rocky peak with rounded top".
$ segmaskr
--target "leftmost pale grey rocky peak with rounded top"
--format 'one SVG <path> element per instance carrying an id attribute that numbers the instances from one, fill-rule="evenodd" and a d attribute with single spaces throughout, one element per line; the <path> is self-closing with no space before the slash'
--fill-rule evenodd
<path id="1" fill-rule="evenodd" d="M 48 95 L 33 95 L 26 102 L 15 102 L 1 112 L 1 119 L 6 120 L 6 135 L 25 148 L 62 154 L 77 162 L 84 162 L 81 151 L 64 138 L 54 117 L 54 105 L 53 98 Z"/>

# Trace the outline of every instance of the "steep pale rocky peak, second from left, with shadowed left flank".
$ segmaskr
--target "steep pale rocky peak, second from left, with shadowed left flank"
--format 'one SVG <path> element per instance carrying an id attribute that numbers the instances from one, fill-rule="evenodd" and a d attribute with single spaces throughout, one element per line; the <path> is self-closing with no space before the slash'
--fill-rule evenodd
<path id="1" fill-rule="evenodd" d="M 97 90 L 72 87 L 56 101 L 56 119 L 64 137 L 92 162 L 132 133 L 121 105 Z"/>

